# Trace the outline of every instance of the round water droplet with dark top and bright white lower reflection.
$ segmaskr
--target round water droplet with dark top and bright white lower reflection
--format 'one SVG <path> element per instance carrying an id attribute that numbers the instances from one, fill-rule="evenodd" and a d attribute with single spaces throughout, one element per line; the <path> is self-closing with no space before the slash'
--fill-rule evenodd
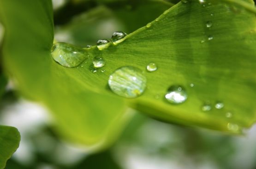
<path id="1" fill-rule="evenodd" d="M 187 92 L 181 85 L 172 85 L 168 90 L 165 98 L 173 104 L 180 104 L 187 100 Z"/>

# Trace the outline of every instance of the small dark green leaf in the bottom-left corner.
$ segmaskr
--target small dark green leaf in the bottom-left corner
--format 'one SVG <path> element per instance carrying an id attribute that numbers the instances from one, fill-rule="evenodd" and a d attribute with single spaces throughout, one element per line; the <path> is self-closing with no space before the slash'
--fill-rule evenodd
<path id="1" fill-rule="evenodd" d="M 0 169 L 4 169 L 6 161 L 19 146 L 20 135 L 16 128 L 0 125 Z"/>

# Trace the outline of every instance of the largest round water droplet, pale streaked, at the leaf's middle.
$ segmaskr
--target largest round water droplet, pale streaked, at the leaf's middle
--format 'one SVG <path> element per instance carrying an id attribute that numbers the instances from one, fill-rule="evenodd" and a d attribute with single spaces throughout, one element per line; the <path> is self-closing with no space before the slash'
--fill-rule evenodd
<path id="1" fill-rule="evenodd" d="M 117 95 L 135 98 L 143 94 L 147 79 L 136 67 L 124 66 L 115 70 L 108 79 L 110 89 Z"/>

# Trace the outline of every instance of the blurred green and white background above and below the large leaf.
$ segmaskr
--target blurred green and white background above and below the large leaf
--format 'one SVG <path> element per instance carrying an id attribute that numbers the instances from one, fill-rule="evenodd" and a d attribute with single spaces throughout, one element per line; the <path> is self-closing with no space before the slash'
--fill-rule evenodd
<path id="1" fill-rule="evenodd" d="M 177 2 L 53 0 L 55 39 L 80 47 L 95 45 L 114 31 L 133 32 Z M 3 34 L 0 24 L 1 42 Z M 119 140 L 95 153 L 61 140 L 48 110 L 19 96 L 12 80 L 0 79 L 7 83 L 0 91 L 0 124 L 21 133 L 6 169 L 256 169 L 256 126 L 245 135 L 226 135 L 166 124 L 136 112 Z"/>

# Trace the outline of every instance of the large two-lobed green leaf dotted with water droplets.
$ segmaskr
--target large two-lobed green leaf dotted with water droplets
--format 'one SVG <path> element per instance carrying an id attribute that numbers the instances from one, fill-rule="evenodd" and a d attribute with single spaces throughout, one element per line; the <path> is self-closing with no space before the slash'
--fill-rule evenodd
<path id="1" fill-rule="evenodd" d="M 98 1 L 109 6 L 128 3 Z M 1 0 L 0 17 L 6 28 L 2 65 L 23 96 L 49 108 L 60 135 L 95 150 L 113 144 L 133 116 L 130 108 L 170 123 L 240 134 L 256 120 L 253 2 L 183 2 L 173 6 L 163 0 L 144 0 L 138 3 L 134 17 L 129 17 L 124 7 L 113 9 L 114 14 L 126 19 L 129 33 L 138 29 L 118 45 L 101 51 L 96 46 L 83 49 L 88 55 L 83 67 L 65 68 L 51 56 L 51 1 Z M 150 15 L 136 13 L 147 12 L 155 4 L 158 11 Z M 164 13 L 157 17 L 160 11 Z M 106 60 L 103 73 L 103 68 L 90 71 L 94 56 Z M 158 69 L 145 72 L 148 89 L 142 96 L 126 99 L 107 87 L 109 75 L 117 68 L 145 70 L 150 62 Z M 187 101 L 179 105 L 166 101 L 164 96 L 173 84 L 184 86 Z M 214 108 L 217 102 L 225 106 Z M 202 111 L 205 104 L 212 109 Z"/>

